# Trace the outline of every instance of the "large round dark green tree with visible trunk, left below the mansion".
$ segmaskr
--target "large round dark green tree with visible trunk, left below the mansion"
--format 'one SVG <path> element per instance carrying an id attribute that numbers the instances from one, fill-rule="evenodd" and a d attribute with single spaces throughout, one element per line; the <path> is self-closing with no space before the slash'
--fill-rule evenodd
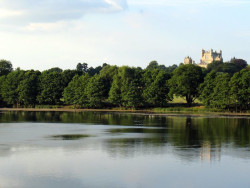
<path id="1" fill-rule="evenodd" d="M 203 74 L 200 67 L 188 64 L 181 65 L 173 71 L 173 77 L 169 80 L 170 92 L 173 95 L 185 97 L 187 104 L 191 106 L 199 96 L 199 85 L 203 81 Z"/>

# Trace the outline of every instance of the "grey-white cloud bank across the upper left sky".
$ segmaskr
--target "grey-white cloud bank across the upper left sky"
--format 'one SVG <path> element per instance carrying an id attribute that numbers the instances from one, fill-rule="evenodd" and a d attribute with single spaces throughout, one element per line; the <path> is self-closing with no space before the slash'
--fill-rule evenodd
<path id="1" fill-rule="evenodd" d="M 56 22 L 79 19 L 87 13 L 117 12 L 126 8 L 126 0 L 1 0 L 0 21 Z"/>

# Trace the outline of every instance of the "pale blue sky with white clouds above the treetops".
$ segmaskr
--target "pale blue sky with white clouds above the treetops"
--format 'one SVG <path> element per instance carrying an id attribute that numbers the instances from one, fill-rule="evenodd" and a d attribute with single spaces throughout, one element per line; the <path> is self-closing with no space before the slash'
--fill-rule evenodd
<path id="1" fill-rule="evenodd" d="M 0 59 L 21 69 L 250 62 L 250 0 L 0 0 Z"/>

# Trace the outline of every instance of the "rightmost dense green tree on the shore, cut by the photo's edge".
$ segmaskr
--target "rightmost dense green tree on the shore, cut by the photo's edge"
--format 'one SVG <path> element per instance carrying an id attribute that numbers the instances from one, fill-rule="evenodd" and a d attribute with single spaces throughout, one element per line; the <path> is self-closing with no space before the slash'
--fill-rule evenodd
<path id="1" fill-rule="evenodd" d="M 236 111 L 238 106 L 240 110 L 248 109 L 250 103 L 250 71 L 243 69 L 235 73 L 229 85 L 232 99 L 235 101 Z"/>

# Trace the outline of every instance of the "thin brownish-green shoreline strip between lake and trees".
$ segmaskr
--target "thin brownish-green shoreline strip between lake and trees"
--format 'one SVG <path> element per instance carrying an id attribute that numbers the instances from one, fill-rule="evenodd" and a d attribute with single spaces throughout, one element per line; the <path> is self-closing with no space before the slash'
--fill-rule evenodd
<path id="1" fill-rule="evenodd" d="M 124 112 L 145 115 L 168 115 L 168 116 L 240 116 L 250 117 L 250 113 L 233 112 L 206 112 L 206 111 L 169 111 L 157 112 L 154 110 L 122 110 L 122 109 L 70 109 L 70 108 L 0 108 L 0 112 Z"/>

